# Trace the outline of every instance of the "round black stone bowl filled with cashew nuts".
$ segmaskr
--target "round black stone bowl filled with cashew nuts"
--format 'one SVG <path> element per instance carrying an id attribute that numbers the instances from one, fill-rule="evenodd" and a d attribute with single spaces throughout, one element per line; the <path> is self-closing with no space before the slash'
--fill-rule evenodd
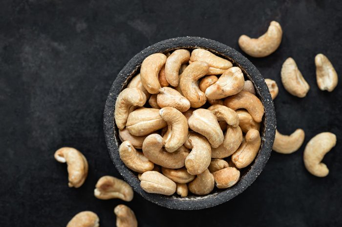
<path id="1" fill-rule="evenodd" d="M 134 56 L 104 111 L 109 155 L 135 192 L 172 209 L 222 204 L 268 161 L 276 132 L 271 94 L 233 48 L 171 38 Z"/>

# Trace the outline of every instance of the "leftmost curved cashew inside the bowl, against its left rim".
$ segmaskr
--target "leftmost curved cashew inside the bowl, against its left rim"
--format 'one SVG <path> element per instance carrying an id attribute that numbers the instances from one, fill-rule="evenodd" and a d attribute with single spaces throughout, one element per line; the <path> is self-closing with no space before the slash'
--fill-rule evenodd
<path id="1" fill-rule="evenodd" d="M 144 106 L 146 103 L 146 95 L 138 88 L 124 89 L 115 102 L 115 123 L 116 126 L 123 130 L 125 128 L 128 114 L 132 112 L 136 106 Z"/>

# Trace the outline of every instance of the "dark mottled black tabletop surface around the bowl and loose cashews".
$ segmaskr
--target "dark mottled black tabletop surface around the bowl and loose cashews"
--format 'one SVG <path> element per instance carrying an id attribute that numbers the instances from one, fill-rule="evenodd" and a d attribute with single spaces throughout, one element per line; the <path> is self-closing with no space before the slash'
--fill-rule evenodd
<path id="1" fill-rule="evenodd" d="M 296 1 L 297 2 L 297 1 Z M 304 168 L 304 146 L 273 153 L 256 182 L 235 199 L 205 210 L 158 207 L 135 195 L 128 206 L 139 225 L 341 226 L 341 83 L 332 93 L 316 85 L 314 57 L 323 53 L 342 74 L 342 4 L 336 1 L 114 1 L 2 0 L 0 2 L 0 226 L 65 226 L 82 210 L 115 226 L 120 200 L 93 196 L 97 179 L 118 176 L 107 153 L 103 108 L 126 62 L 157 41 L 178 36 L 215 39 L 237 50 L 241 34 L 257 37 L 271 20 L 283 29 L 269 57 L 249 57 L 264 77 L 278 82 L 278 129 L 304 129 L 305 142 L 319 132 L 337 135 L 324 162 L 325 178 Z M 280 68 L 293 57 L 311 89 L 289 95 Z M 53 153 L 82 151 L 89 174 L 79 189 L 67 187 L 66 165 Z M 126 203 L 125 203 L 126 204 Z"/>

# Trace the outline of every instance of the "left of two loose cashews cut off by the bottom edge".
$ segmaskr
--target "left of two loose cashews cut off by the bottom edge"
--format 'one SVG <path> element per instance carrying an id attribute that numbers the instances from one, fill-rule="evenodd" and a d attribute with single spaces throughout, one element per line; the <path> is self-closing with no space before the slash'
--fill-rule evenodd
<path id="1" fill-rule="evenodd" d="M 76 214 L 66 225 L 66 227 L 99 227 L 100 219 L 92 211 L 82 211 Z"/>

